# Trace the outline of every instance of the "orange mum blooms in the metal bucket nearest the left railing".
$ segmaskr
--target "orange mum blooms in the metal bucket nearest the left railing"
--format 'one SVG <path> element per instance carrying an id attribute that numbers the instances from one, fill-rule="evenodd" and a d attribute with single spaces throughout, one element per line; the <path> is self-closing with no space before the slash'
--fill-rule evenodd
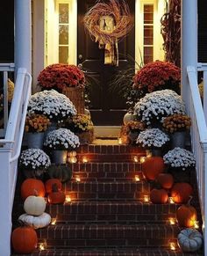
<path id="1" fill-rule="evenodd" d="M 26 116 L 25 132 L 41 133 L 45 132 L 51 124 L 50 120 L 43 114 L 32 113 Z"/>

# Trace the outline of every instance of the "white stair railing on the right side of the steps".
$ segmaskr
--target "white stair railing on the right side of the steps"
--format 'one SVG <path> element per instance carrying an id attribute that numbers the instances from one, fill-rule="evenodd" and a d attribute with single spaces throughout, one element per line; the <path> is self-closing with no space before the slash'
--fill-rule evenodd
<path id="1" fill-rule="evenodd" d="M 207 67 L 207 65 L 205 65 Z M 206 69 L 207 71 L 207 69 Z M 206 72 L 205 71 L 205 72 Z M 203 218 L 203 236 L 204 236 L 204 256 L 207 256 L 207 127 L 204 112 L 206 106 L 202 106 L 200 98 L 198 84 L 197 84 L 197 73 L 193 66 L 187 67 L 189 77 L 189 100 L 186 101 L 188 104 L 189 115 L 192 120 L 191 127 L 191 143 L 192 150 L 196 157 L 196 178 L 197 187 L 199 194 L 199 201 L 201 206 L 202 218 Z M 204 76 L 204 80 L 206 79 Z M 207 82 L 205 80 L 204 84 Z"/>

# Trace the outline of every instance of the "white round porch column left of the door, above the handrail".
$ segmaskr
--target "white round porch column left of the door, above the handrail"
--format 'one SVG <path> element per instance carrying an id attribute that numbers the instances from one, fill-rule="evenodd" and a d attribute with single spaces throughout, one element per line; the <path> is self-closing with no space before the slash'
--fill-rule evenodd
<path id="1" fill-rule="evenodd" d="M 15 0 L 15 68 L 32 72 L 31 0 Z"/>

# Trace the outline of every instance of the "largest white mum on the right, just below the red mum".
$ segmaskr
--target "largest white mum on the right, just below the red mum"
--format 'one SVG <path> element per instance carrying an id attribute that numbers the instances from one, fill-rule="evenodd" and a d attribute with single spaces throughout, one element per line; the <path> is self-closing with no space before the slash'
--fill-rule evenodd
<path id="1" fill-rule="evenodd" d="M 141 121 L 153 126 L 153 121 L 162 121 L 164 117 L 175 113 L 185 113 L 181 96 L 172 90 L 147 93 L 134 107 Z"/>

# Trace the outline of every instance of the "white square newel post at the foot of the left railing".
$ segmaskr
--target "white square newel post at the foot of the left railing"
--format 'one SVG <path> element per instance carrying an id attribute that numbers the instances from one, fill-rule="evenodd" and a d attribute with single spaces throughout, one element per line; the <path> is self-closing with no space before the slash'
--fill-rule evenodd
<path id="1" fill-rule="evenodd" d="M 0 179 L 0 256 L 11 256 L 11 191 L 10 191 L 10 172 L 9 159 L 11 156 L 10 148 L 1 148 L 1 179 Z"/>

